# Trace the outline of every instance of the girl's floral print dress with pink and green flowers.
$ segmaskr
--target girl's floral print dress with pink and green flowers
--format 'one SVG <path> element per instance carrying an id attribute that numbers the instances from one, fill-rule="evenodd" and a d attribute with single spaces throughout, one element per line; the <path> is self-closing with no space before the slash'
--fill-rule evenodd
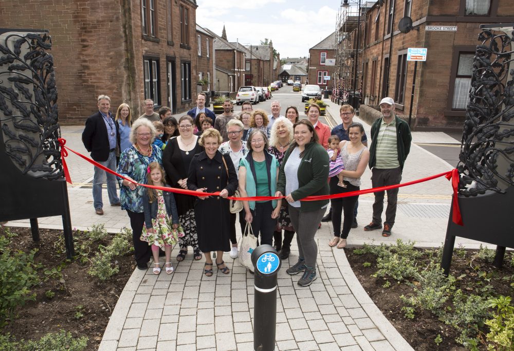
<path id="1" fill-rule="evenodd" d="M 178 229 L 173 228 L 171 217 L 166 212 L 166 205 L 164 205 L 164 197 L 162 190 L 157 190 L 157 216 L 152 218 L 153 233 L 146 231 L 146 226 L 143 226 L 141 233 L 141 241 L 148 242 L 148 245 L 155 245 L 160 248 L 168 245 L 175 245 L 178 238 L 184 236 L 181 227 Z"/>

